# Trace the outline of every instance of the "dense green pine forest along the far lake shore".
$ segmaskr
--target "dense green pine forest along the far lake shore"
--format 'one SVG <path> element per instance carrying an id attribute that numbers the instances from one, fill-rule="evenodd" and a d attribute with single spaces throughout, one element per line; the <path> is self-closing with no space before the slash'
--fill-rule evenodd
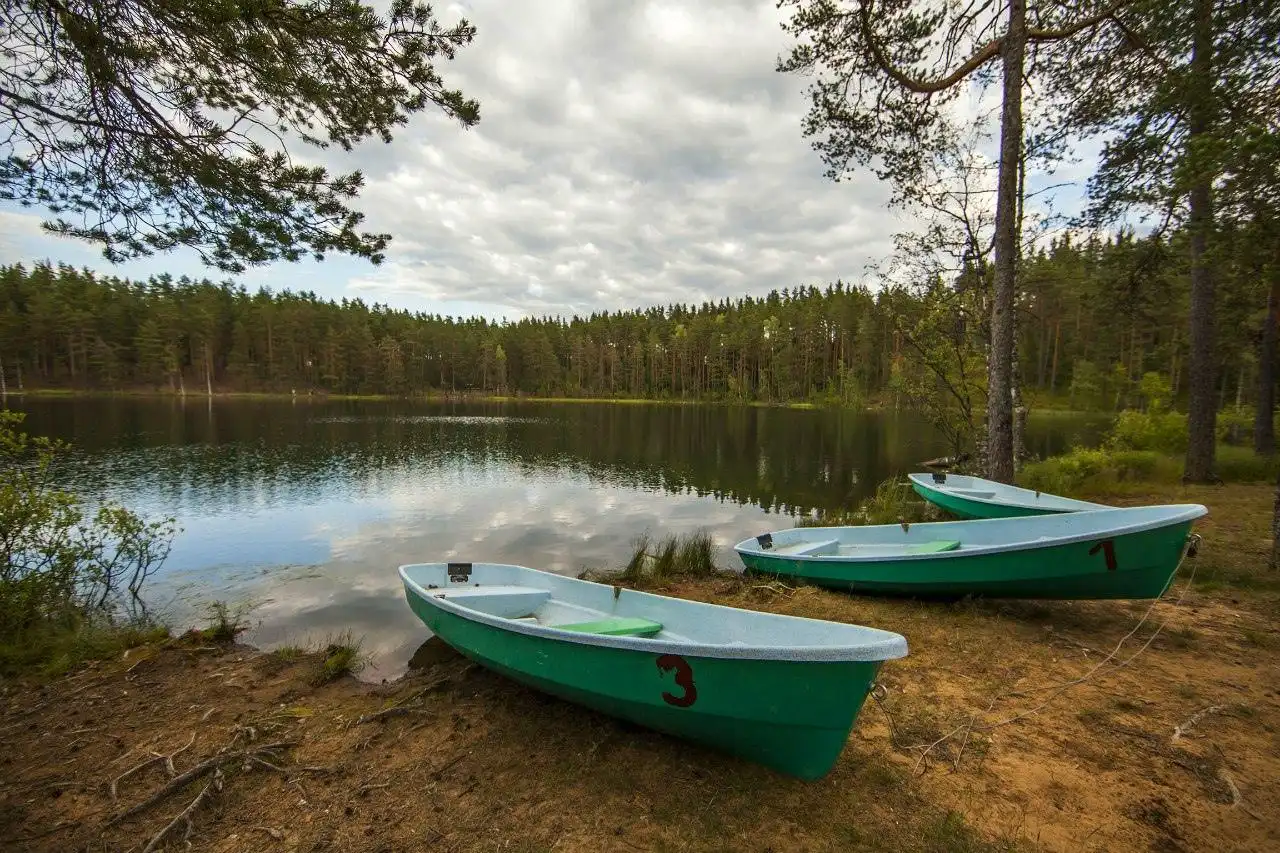
<path id="1" fill-rule="evenodd" d="M 1024 393 L 1133 403 L 1156 371 L 1184 389 L 1188 273 L 1171 240 L 1061 237 L 1023 261 Z M 1267 292 L 1226 265 L 1220 405 L 1251 403 Z M 950 289 L 950 288 L 948 288 Z M 230 282 L 132 282 L 0 268 L 0 365 L 18 388 L 479 392 L 858 405 L 927 373 L 928 289 L 841 282 L 703 305 L 492 323 Z M 964 334 L 954 332 L 954 334 Z M 973 337 L 973 336 L 968 336 Z M 980 336 L 979 336 L 980 339 Z M 924 377 L 928 379 L 927 377 Z"/>

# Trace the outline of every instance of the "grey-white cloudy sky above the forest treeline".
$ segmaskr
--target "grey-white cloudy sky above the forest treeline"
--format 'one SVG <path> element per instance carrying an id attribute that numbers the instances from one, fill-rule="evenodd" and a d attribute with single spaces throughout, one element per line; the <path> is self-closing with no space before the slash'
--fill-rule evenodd
<path id="1" fill-rule="evenodd" d="M 908 219 L 870 174 L 835 183 L 801 136 L 805 79 L 773 0 L 465 0 L 471 46 L 442 68 L 481 105 L 462 129 L 416 117 L 369 143 L 358 209 L 387 261 L 332 256 L 239 277 L 492 318 L 590 313 L 861 280 Z M 96 248 L 0 211 L 0 260 L 221 278 L 172 254 L 111 269 Z"/>

